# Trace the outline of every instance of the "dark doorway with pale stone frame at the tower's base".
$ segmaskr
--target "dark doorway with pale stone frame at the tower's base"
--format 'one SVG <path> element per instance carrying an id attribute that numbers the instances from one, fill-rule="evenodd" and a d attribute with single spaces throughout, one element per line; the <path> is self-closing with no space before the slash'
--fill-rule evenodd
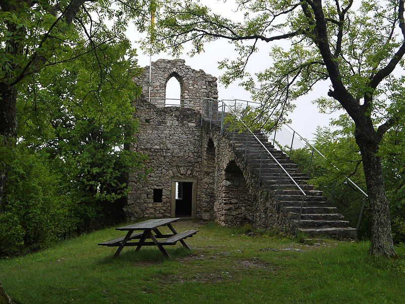
<path id="1" fill-rule="evenodd" d="M 172 216 L 195 217 L 196 181 L 174 180 L 172 182 Z"/>

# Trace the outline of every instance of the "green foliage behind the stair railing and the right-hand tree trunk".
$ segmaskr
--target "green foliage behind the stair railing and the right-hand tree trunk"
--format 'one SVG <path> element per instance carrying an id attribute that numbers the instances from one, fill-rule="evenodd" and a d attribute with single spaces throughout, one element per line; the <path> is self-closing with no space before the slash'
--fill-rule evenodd
<path id="1" fill-rule="evenodd" d="M 354 125 L 347 116 L 332 121 L 335 131 L 318 128 L 315 134 L 315 147 L 325 155 L 312 161 L 310 183 L 322 190 L 333 201 L 352 225 L 357 224 L 364 196 L 347 177 L 366 191 L 366 181 L 362 170 L 361 157 L 352 134 Z M 395 125 L 388 131 L 380 146 L 387 200 L 390 206 L 392 232 L 396 243 L 405 242 L 405 130 L 403 124 Z M 309 168 L 312 149 L 308 146 L 293 149 L 292 159 L 301 168 Z M 339 170 L 337 169 L 339 168 Z M 304 171 L 304 173 L 307 173 Z M 358 236 L 370 238 L 371 214 L 369 201 L 360 222 Z"/>

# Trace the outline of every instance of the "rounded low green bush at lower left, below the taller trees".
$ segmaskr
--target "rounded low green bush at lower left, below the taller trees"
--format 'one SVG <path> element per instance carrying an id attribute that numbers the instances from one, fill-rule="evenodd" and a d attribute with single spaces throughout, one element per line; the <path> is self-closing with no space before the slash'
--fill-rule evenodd
<path id="1" fill-rule="evenodd" d="M 35 250 L 66 238 L 75 230 L 74 203 L 47 155 L 21 145 L 11 152 L 0 216 L 0 255 Z"/>

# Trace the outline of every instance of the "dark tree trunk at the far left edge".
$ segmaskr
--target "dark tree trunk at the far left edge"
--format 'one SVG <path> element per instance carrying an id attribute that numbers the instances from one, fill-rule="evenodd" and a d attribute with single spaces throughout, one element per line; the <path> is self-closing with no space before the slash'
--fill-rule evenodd
<path id="1" fill-rule="evenodd" d="M 14 144 L 17 137 L 16 103 L 16 88 L 0 83 L 0 144 L 2 146 Z M 6 177 L 6 168 L 0 167 L 0 211 L 3 205 Z"/>

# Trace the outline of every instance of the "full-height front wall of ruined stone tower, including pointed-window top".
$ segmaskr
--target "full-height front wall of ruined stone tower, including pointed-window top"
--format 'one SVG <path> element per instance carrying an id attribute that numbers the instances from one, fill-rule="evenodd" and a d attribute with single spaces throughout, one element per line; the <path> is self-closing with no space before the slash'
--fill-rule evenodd
<path id="1" fill-rule="evenodd" d="M 148 155 L 148 166 L 152 172 L 146 180 L 137 183 L 136 177 L 130 174 L 131 191 L 124 208 L 129 219 L 170 217 L 174 179 L 195 180 L 195 216 L 207 220 L 213 216 L 215 160 L 203 160 L 201 113 L 206 114 L 210 106 L 203 98 L 218 98 L 217 79 L 203 70 L 192 69 L 184 62 L 181 59 L 152 62 L 150 102 L 149 66 L 135 79 L 142 88 L 142 94 L 134 102 L 135 117 L 140 124 L 133 149 Z M 181 106 L 165 106 L 166 85 L 172 77 L 180 83 Z M 203 162 L 209 162 L 211 166 L 203 169 Z M 162 202 L 153 202 L 153 189 L 163 189 Z"/>

